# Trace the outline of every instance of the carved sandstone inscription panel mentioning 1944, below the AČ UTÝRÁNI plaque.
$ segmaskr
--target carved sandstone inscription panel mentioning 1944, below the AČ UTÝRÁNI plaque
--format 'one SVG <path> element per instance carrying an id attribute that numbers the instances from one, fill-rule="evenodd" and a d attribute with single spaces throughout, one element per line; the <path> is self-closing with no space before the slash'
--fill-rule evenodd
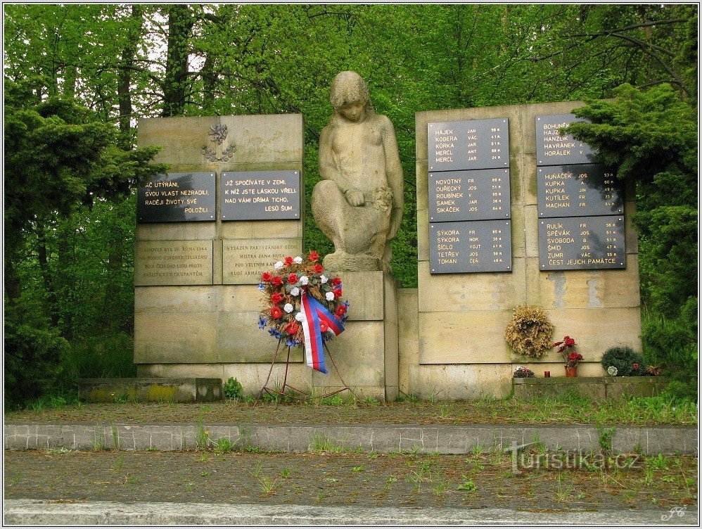
<path id="1" fill-rule="evenodd" d="M 211 285 L 212 241 L 136 241 L 134 284 Z"/>

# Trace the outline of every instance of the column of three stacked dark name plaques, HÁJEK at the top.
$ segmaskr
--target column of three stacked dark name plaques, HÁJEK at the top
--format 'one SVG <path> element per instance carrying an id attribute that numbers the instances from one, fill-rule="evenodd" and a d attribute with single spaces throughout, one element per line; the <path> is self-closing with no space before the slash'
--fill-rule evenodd
<path id="1" fill-rule="evenodd" d="M 509 121 L 427 132 L 430 273 L 511 272 Z"/>

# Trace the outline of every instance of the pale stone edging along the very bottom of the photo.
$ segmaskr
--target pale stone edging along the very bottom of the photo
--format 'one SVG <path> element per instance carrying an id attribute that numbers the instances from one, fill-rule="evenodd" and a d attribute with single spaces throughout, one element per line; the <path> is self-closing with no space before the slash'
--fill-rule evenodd
<path id="1" fill-rule="evenodd" d="M 667 518 L 667 519 L 666 519 Z M 698 513 L 658 510 L 528 512 L 356 506 L 56 503 L 8 499 L 6 525 L 698 525 Z"/>

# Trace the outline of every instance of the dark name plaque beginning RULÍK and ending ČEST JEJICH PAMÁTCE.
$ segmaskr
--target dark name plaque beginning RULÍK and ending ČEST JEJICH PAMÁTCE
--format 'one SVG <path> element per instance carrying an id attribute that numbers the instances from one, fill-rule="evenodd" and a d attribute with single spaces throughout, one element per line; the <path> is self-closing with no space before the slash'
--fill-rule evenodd
<path id="1" fill-rule="evenodd" d="M 539 221 L 539 268 L 626 268 L 624 216 L 559 217 Z"/>

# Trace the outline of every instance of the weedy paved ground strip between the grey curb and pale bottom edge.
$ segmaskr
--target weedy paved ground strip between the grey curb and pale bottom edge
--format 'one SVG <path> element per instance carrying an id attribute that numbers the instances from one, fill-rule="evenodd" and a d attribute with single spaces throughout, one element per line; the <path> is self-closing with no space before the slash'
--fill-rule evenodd
<path id="1" fill-rule="evenodd" d="M 696 504 L 697 459 L 634 468 L 522 470 L 471 456 L 248 452 L 5 452 L 5 497 L 57 502 L 207 502 L 411 507 L 670 509 Z M 528 459 L 527 459 L 528 461 Z"/>

